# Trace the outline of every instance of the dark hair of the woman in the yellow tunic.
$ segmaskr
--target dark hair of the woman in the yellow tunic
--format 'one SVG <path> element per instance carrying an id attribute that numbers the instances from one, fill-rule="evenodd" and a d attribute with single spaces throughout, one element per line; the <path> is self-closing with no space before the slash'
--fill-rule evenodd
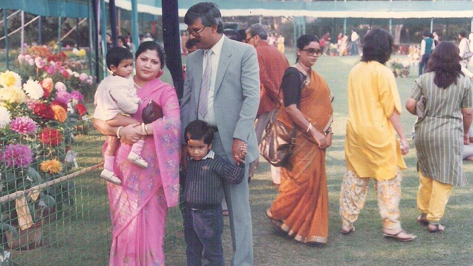
<path id="1" fill-rule="evenodd" d="M 377 61 L 385 64 L 393 53 L 394 38 L 383 29 L 373 29 L 364 35 L 362 62 Z"/>

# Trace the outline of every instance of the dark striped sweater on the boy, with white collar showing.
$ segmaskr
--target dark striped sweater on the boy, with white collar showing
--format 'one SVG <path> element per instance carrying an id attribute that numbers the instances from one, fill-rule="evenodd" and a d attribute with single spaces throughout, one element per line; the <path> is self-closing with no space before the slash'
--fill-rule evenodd
<path id="1" fill-rule="evenodd" d="M 184 186 L 184 199 L 193 204 L 220 204 L 223 199 L 223 179 L 239 184 L 245 175 L 245 165 L 232 165 L 210 151 L 201 160 L 189 159 Z"/>

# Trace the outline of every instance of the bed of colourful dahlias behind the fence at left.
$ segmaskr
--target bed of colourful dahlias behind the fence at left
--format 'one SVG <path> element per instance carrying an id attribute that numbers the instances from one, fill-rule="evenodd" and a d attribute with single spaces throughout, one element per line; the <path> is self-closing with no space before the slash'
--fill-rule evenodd
<path id="1" fill-rule="evenodd" d="M 39 56 L 33 61 L 44 63 Z M 64 75 L 67 69 L 63 70 L 61 63 L 49 63 L 56 71 L 50 75 L 45 74 L 45 67 L 34 65 L 38 75 L 28 80 L 12 71 L 0 73 L 0 197 L 53 180 L 74 168 L 77 153 L 70 145 L 77 125 L 89 123 L 84 122 L 89 116 L 83 94 L 64 83 L 70 79 Z M 41 224 L 44 208 L 61 210 L 62 204 L 73 203 L 73 186 L 65 183 L 1 202 L 0 232 L 25 232 Z"/>

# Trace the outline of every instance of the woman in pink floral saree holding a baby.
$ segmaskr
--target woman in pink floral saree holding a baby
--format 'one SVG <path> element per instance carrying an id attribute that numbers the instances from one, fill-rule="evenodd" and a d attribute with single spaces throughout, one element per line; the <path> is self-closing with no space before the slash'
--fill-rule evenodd
<path id="1" fill-rule="evenodd" d="M 122 185 L 107 184 L 112 222 L 110 266 L 164 265 L 163 241 L 168 207 L 178 203 L 179 193 L 179 104 L 174 88 L 156 78 L 162 74 L 164 51 L 155 42 L 143 42 L 136 52 L 137 94 L 141 98 L 132 118 L 142 122 L 142 110 L 154 100 L 163 118 L 146 125 L 128 125 L 119 131 L 123 142 L 115 154 L 115 174 Z M 95 126 L 116 135 L 116 127 L 100 120 Z M 142 150 L 148 168 L 127 160 L 131 145 L 146 135 Z M 107 145 L 107 143 L 105 143 Z M 105 147 L 104 145 L 104 147 Z"/>

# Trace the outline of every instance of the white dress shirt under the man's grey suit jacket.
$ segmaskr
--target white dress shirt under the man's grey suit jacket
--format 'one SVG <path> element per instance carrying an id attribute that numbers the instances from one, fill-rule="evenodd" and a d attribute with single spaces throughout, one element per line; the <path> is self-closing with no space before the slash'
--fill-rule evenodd
<path id="1" fill-rule="evenodd" d="M 210 56 L 210 60 L 212 60 L 212 72 L 210 73 L 210 84 L 208 88 L 207 113 L 205 114 L 205 117 L 202 117 L 200 114 L 198 114 L 199 120 L 204 120 L 210 126 L 217 126 L 214 112 L 215 79 L 217 78 L 217 68 L 219 67 L 221 48 L 223 46 L 224 39 L 225 37 L 222 34 L 220 40 L 212 48 L 210 48 L 213 54 Z M 206 64 L 207 58 L 204 57 L 202 62 L 203 70 L 205 70 Z M 204 77 L 204 71 L 202 71 L 202 77 Z"/>

